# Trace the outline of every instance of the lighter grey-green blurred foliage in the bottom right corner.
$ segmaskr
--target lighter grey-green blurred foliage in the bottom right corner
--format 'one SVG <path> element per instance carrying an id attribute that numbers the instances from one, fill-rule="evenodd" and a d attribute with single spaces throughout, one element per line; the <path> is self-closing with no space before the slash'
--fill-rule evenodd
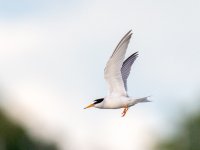
<path id="1" fill-rule="evenodd" d="M 158 141 L 156 150 L 200 150 L 200 111 L 184 115 L 174 134 Z M 167 126 L 166 126 L 167 128 Z"/>

